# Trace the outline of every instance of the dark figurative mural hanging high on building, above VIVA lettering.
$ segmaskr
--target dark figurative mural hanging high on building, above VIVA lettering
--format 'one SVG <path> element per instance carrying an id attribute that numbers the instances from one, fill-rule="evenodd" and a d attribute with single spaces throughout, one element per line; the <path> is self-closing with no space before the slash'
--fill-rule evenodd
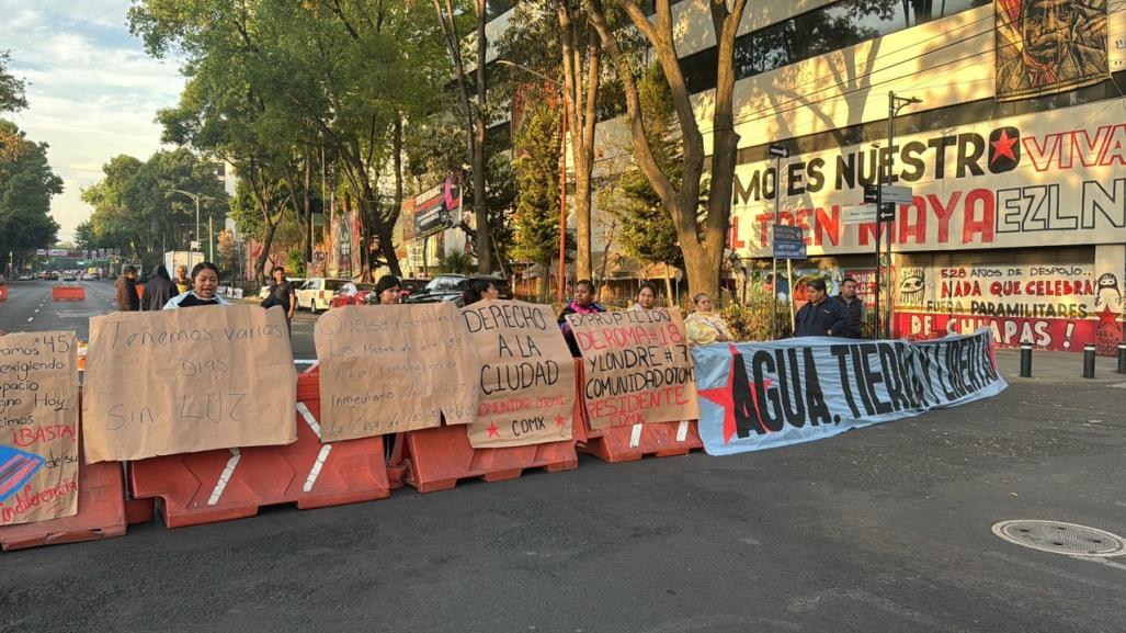
<path id="1" fill-rule="evenodd" d="M 1071 90 L 1110 74 L 1107 0 L 995 0 L 997 99 Z"/>

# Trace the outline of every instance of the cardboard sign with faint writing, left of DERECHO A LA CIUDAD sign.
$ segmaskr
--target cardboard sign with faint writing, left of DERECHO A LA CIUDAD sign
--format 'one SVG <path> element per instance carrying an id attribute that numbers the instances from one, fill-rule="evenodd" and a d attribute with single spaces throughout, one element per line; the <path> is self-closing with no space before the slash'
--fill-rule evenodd
<path id="1" fill-rule="evenodd" d="M 338 307 L 313 337 L 325 442 L 476 419 L 481 362 L 453 303 Z"/>

